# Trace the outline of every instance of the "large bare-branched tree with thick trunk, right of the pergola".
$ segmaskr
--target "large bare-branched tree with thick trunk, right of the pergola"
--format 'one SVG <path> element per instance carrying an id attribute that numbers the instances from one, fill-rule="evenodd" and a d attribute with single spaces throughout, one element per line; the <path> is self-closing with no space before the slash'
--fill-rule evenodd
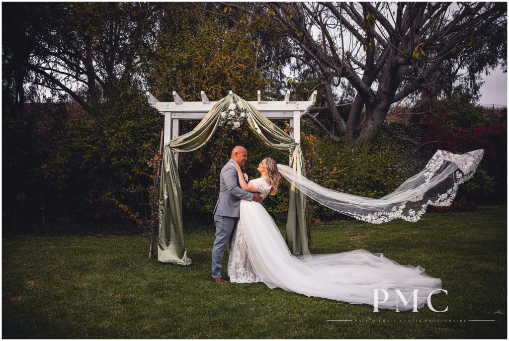
<path id="1" fill-rule="evenodd" d="M 469 55 L 506 36 L 505 3 L 224 5 L 271 17 L 272 34 L 288 38 L 286 54 L 323 84 L 327 106 L 313 111 L 328 112 L 340 135 L 362 142 L 378 136 L 393 103 L 435 82 L 444 63 L 452 63 L 453 73 L 477 63 L 472 77 L 493 65 L 492 58 L 472 61 Z M 502 48 L 492 53 L 497 62 L 506 59 L 505 41 L 500 42 Z M 338 115 L 333 96 L 342 79 L 356 91 L 348 120 Z"/>

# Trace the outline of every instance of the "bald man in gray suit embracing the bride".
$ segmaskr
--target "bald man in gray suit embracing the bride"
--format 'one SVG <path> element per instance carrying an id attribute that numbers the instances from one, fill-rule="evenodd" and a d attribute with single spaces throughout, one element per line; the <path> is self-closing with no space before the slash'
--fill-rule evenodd
<path id="1" fill-rule="evenodd" d="M 262 203 L 259 193 L 243 191 L 239 185 L 236 169 L 230 164 L 235 162 L 242 167 L 247 161 L 247 150 L 236 146 L 232 150 L 232 158 L 222 167 L 219 178 L 219 198 L 214 208 L 214 223 L 216 224 L 216 240 L 212 246 L 212 276 L 210 280 L 216 283 L 227 283 L 221 278 L 221 259 L 224 246 L 228 244 L 231 253 L 233 230 L 239 218 L 240 200 Z"/>

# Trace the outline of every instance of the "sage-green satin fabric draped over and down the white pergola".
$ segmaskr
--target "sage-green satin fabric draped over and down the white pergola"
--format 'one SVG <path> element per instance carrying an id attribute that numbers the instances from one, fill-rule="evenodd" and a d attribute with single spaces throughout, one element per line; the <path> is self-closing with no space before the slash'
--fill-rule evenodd
<path id="1" fill-rule="evenodd" d="M 233 94 L 233 102 L 240 110 L 247 111 L 246 123 L 265 145 L 278 149 L 295 148 L 290 166 L 304 175 L 304 159 L 300 145 L 275 124 L 266 119 L 256 108 Z M 182 193 L 177 164 L 173 158 L 175 152 L 191 152 L 207 143 L 219 126 L 221 111 L 230 102 L 228 96 L 219 100 L 190 132 L 169 142 L 164 148 L 161 186 L 159 188 L 159 242 L 158 259 L 160 262 L 189 265 L 184 246 L 182 226 Z M 305 196 L 294 186 L 290 187 L 290 205 L 287 221 L 287 244 L 293 254 L 309 254 L 307 246 L 306 221 L 304 216 Z"/>

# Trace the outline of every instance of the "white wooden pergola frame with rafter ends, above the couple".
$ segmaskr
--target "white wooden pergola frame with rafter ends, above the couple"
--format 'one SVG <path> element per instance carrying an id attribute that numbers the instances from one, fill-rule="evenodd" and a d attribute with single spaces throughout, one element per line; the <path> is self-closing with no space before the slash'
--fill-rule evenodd
<path id="1" fill-rule="evenodd" d="M 147 91 L 147 100 L 153 108 L 164 115 L 164 145 L 179 136 L 179 120 L 201 120 L 209 110 L 216 104 L 211 102 L 204 91 L 201 93 L 202 100 L 199 102 L 184 102 L 182 98 L 173 92 L 173 102 L 159 102 L 150 92 Z M 229 95 L 230 103 L 233 101 L 233 91 Z M 291 101 L 290 91 L 287 91 L 284 101 L 262 101 L 261 91 L 258 90 L 258 100 L 248 101 L 267 119 L 290 120 L 293 127 L 291 136 L 297 143 L 300 143 L 300 117 L 310 106 L 316 102 L 317 91 L 307 101 Z M 175 159 L 178 156 L 175 154 Z"/>

